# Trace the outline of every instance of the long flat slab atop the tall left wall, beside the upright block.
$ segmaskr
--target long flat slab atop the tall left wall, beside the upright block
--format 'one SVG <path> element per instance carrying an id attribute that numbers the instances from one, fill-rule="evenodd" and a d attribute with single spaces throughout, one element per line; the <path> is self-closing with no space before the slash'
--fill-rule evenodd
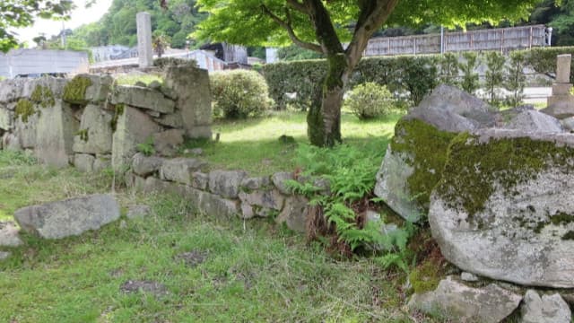
<path id="1" fill-rule="evenodd" d="M 161 113 L 173 113 L 175 102 L 163 93 L 140 86 L 117 86 L 111 99 L 112 104 L 126 104 L 136 108 L 151 109 Z"/>

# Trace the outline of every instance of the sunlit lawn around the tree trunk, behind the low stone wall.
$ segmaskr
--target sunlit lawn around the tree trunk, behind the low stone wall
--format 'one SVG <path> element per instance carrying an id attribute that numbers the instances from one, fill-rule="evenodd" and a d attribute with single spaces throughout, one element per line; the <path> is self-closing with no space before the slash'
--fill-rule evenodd
<path id="1" fill-rule="evenodd" d="M 361 121 L 344 114 L 342 133 L 344 143 L 384 151 L 401 115 Z M 303 112 L 274 112 L 265 118 L 247 120 L 217 120 L 213 133 L 219 142 L 190 141 L 186 148 L 202 148 L 204 159 L 213 169 L 248 170 L 252 175 L 271 175 L 276 171 L 294 170 L 297 144 L 308 144 L 306 114 Z M 295 139 L 284 143 L 282 135 Z M 184 153 L 185 154 L 185 153 Z"/>

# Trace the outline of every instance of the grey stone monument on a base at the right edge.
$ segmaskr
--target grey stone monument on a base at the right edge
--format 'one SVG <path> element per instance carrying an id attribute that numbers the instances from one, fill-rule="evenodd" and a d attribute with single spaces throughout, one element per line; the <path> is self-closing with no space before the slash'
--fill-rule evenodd
<path id="1" fill-rule="evenodd" d="M 565 119 L 574 116 L 574 96 L 570 93 L 570 54 L 559 55 L 556 65 L 556 81 L 552 84 L 552 96 L 548 98 L 548 108 L 541 111 L 552 117 Z"/>

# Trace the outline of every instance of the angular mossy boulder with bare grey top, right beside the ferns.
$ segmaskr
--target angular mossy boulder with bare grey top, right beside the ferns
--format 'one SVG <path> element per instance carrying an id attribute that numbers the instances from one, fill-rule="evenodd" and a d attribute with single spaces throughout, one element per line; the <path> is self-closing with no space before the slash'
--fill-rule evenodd
<path id="1" fill-rule="evenodd" d="M 419 221 L 441 177 L 450 140 L 460 132 L 491 127 L 494 120 L 482 100 L 440 85 L 396 124 L 375 195 L 404 219 Z"/>

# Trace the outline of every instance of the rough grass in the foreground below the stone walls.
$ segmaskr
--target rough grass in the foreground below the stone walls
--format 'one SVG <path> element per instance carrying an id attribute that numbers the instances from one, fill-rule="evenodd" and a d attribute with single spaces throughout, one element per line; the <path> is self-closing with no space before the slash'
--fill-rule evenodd
<path id="1" fill-rule="evenodd" d="M 108 190 L 105 176 L 12 160 L 0 152 L 0 173 L 12 174 L 0 182 L 8 216 L 22 205 Z M 18 193 L 5 195 L 9 188 Z M 334 261 L 273 223 L 200 215 L 174 196 L 117 198 L 153 212 L 64 240 L 23 236 L 24 246 L 9 249 L 13 256 L 0 263 L 0 321 L 412 321 L 402 310 L 404 275 L 368 258 Z M 207 255 L 204 263 L 178 260 L 189 251 Z M 121 292 L 129 280 L 165 284 L 169 293 Z"/>

